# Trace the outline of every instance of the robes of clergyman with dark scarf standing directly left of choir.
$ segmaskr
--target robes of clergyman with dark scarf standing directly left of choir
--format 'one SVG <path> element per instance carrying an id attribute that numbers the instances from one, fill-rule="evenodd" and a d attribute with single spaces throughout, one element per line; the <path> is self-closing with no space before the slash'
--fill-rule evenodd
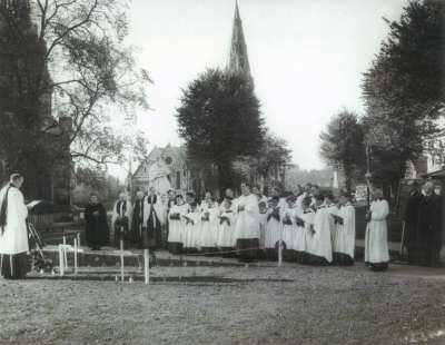
<path id="1" fill-rule="evenodd" d="M 161 201 L 156 194 L 145 197 L 142 248 L 155 249 L 161 246 L 164 211 Z"/>

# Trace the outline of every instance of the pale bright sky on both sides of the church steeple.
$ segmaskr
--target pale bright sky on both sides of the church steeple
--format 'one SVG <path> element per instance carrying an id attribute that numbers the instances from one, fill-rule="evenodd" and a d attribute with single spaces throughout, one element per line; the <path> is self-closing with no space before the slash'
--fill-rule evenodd
<path id="1" fill-rule="evenodd" d="M 407 0 L 238 0 L 263 116 L 293 162 L 324 167 L 319 134 L 344 108 L 363 115 L 360 82 Z M 150 147 L 180 145 L 181 89 L 228 62 L 235 0 L 132 0 L 127 43 L 154 79 L 138 112 Z"/>

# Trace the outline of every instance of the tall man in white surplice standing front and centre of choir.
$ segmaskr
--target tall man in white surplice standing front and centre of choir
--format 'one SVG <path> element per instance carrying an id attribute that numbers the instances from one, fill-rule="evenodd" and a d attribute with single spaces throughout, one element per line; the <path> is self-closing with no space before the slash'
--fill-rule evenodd
<path id="1" fill-rule="evenodd" d="M 250 193 L 250 185 L 241 184 L 243 195 L 237 199 L 237 221 L 235 236 L 238 249 L 238 258 L 243 262 L 251 262 L 257 257 L 259 247 L 259 208 L 258 198 Z"/>

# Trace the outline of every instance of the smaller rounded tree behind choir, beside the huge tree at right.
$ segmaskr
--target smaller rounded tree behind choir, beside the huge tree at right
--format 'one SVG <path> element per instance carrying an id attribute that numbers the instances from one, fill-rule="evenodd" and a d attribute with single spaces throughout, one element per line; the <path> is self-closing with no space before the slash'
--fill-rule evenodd
<path id="1" fill-rule="evenodd" d="M 328 165 L 342 169 L 346 190 L 363 172 L 365 166 L 365 144 L 363 126 L 357 115 L 343 110 L 334 117 L 327 130 L 320 134 L 320 155 Z"/>

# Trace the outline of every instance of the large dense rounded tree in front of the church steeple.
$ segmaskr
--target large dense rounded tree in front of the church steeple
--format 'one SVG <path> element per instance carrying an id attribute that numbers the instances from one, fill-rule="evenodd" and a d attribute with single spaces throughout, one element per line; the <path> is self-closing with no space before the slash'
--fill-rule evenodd
<path id="1" fill-rule="evenodd" d="M 220 190 L 234 184 L 234 160 L 261 147 L 259 101 L 244 76 L 207 70 L 182 90 L 176 116 L 190 157 L 217 167 Z"/>

